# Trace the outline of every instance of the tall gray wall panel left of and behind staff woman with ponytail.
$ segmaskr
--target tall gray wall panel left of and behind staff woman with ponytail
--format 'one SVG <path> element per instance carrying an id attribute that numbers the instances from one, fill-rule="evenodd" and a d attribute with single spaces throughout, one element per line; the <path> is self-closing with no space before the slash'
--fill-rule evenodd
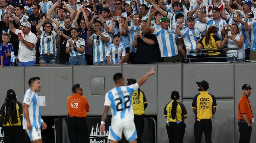
<path id="1" fill-rule="evenodd" d="M 176 90 L 182 99 L 182 64 L 158 64 L 157 74 L 157 138 L 159 143 L 168 142 L 164 107 L 171 101 L 171 92 Z M 180 100 L 182 101 L 182 100 Z"/>

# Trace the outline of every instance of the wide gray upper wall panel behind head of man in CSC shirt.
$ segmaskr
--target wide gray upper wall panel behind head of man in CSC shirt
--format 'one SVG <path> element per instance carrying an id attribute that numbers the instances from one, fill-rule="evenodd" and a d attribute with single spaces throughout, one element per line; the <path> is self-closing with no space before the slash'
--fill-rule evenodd
<path id="1" fill-rule="evenodd" d="M 184 64 L 184 98 L 193 98 L 198 88 L 196 82 L 202 80 L 209 83 L 208 91 L 216 98 L 234 98 L 233 69 L 233 63 Z"/>

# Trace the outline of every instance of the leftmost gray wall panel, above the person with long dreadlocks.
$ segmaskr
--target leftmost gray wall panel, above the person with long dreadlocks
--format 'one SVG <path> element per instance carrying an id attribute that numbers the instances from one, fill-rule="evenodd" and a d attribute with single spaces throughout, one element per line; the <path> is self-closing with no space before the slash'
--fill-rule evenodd
<path id="1" fill-rule="evenodd" d="M 24 96 L 24 68 L 3 67 L 0 69 L 0 106 L 5 101 L 6 92 L 13 89 L 19 102 L 23 102 Z"/>

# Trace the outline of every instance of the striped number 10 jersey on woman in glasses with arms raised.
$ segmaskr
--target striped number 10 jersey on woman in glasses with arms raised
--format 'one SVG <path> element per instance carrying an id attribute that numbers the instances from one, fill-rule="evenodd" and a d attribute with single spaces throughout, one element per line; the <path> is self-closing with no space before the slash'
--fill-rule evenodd
<path id="1" fill-rule="evenodd" d="M 56 47 L 56 39 L 57 33 L 55 30 L 51 31 L 51 34 L 46 34 L 45 31 L 39 35 L 40 38 L 40 54 L 52 53 L 57 56 L 57 47 Z"/>

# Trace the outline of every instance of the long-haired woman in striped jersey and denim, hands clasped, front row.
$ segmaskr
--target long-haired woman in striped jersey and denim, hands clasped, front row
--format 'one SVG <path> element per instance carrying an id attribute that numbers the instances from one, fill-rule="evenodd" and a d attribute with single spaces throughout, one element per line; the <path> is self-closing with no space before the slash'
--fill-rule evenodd
<path id="1" fill-rule="evenodd" d="M 71 30 L 72 38 L 67 40 L 66 53 L 69 53 L 70 65 L 84 65 L 87 64 L 84 54 L 85 54 L 85 41 L 83 38 L 78 37 L 78 30 L 72 28 Z"/>

